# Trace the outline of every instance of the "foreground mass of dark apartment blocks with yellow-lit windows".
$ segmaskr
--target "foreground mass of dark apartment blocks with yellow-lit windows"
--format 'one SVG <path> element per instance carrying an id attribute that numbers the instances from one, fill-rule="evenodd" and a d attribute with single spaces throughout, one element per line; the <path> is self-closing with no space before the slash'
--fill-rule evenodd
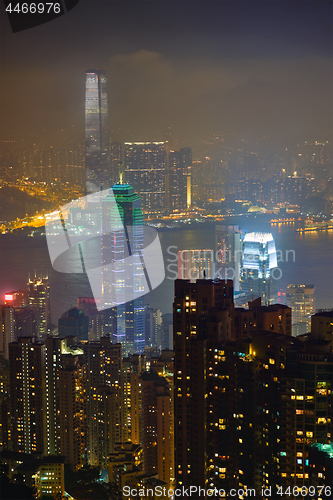
<path id="1" fill-rule="evenodd" d="M 120 490 L 329 485 L 332 311 L 293 337 L 288 306 L 237 308 L 233 296 L 231 280 L 176 280 L 173 350 L 150 359 L 124 356 L 109 336 L 10 342 L 0 370 L 9 477 L 26 466 L 40 495 L 64 493 L 66 463 L 98 466 Z"/>

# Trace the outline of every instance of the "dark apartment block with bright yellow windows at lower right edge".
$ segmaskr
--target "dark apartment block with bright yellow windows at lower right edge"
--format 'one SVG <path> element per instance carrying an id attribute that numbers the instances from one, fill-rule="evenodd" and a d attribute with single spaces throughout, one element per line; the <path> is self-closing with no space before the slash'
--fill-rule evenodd
<path id="1" fill-rule="evenodd" d="M 313 334 L 315 330 L 296 353 L 290 353 L 281 381 L 279 484 L 283 488 L 309 486 L 308 447 L 330 444 L 332 439 L 333 356 L 330 342 L 316 340 Z"/>

